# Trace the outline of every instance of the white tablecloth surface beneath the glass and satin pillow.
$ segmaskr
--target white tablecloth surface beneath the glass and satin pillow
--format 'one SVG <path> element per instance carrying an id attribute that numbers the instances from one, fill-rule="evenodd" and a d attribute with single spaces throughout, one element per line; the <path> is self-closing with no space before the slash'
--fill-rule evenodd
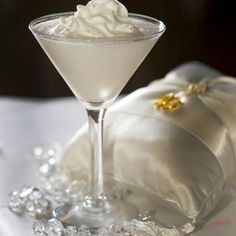
<path id="1" fill-rule="evenodd" d="M 37 186 L 37 165 L 31 155 L 35 146 L 64 145 L 85 120 L 75 98 L 0 98 L 0 236 L 33 236 L 33 220 L 8 210 L 8 193 L 24 184 Z M 235 189 L 226 193 L 212 218 L 193 236 L 236 235 Z"/>

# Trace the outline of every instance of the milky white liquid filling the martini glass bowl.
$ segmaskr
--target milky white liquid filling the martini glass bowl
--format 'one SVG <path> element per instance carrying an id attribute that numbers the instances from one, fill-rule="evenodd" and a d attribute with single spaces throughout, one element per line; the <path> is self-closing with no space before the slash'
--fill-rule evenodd
<path id="1" fill-rule="evenodd" d="M 94 103 L 116 97 L 157 41 L 79 42 L 35 37 L 73 93 Z"/>

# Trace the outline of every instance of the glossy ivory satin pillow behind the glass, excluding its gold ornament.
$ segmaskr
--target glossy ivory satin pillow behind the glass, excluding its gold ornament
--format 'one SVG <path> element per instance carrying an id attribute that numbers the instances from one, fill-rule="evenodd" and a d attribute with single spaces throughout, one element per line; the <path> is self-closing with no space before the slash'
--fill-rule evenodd
<path id="1" fill-rule="evenodd" d="M 189 97 L 181 109 L 154 108 L 157 98 L 203 81 L 211 89 Z M 105 174 L 154 194 L 193 221 L 206 216 L 235 176 L 235 103 L 234 78 L 199 63 L 176 68 L 107 113 Z M 85 126 L 68 144 L 61 166 L 76 178 L 87 165 Z"/>

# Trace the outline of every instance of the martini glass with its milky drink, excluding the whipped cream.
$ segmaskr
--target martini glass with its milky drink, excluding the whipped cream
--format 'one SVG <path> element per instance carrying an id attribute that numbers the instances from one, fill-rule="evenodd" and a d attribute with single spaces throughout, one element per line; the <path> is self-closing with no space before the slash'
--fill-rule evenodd
<path id="1" fill-rule="evenodd" d="M 143 22 L 143 34 L 107 38 L 72 38 L 45 33 L 41 26 L 69 17 L 73 12 L 43 16 L 30 30 L 88 114 L 90 153 L 88 195 L 76 205 L 54 210 L 54 216 L 70 225 L 92 229 L 137 218 L 138 210 L 126 201 L 108 200 L 103 181 L 103 120 L 106 109 L 137 70 L 165 31 L 154 18 L 130 14 Z"/>

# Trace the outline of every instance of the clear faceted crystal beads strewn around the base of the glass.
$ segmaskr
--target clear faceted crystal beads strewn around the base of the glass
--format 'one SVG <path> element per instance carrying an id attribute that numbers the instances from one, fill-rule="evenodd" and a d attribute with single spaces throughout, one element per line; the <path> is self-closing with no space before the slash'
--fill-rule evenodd
<path id="1" fill-rule="evenodd" d="M 77 202 L 87 193 L 87 183 L 83 180 L 73 180 L 69 174 L 62 173 L 58 168 L 59 149 L 42 149 L 37 147 L 33 154 L 39 163 L 42 175 L 42 187 L 46 196 L 58 203 Z M 109 198 L 123 200 L 130 191 L 120 183 L 107 183 Z M 38 188 L 24 186 L 19 191 L 10 194 L 9 209 L 16 214 L 27 212 L 30 216 L 39 218 L 49 215 L 51 203 L 45 194 Z M 155 220 L 156 222 L 156 220 Z M 124 221 L 120 224 L 109 225 L 99 230 L 98 236 L 183 236 L 195 229 L 191 223 L 182 226 L 167 228 L 163 224 L 154 223 L 149 214 L 140 214 L 138 220 Z M 63 235 L 63 236 L 91 236 L 90 229 L 83 225 L 63 227 L 62 222 L 56 218 L 47 222 L 37 221 L 33 224 L 34 234 L 37 236 Z M 49 230 L 49 231 L 47 231 Z M 48 233 L 48 234 L 47 234 Z"/>

